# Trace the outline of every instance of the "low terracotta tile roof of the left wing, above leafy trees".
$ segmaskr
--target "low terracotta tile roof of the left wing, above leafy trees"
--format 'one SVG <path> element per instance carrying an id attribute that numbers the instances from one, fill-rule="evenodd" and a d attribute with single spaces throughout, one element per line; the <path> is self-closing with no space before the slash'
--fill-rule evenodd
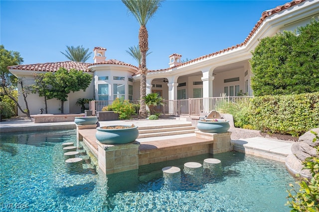
<path id="1" fill-rule="evenodd" d="M 65 62 L 56 62 L 56 63 L 37 63 L 37 64 L 29 64 L 29 65 L 8 66 L 8 69 L 56 72 L 60 67 L 64 67 L 67 70 L 77 69 L 77 70 L 88 72 L 87 67 L 89 65 L 91 64 L 82 63 L 82 62 L 74 62 L 74 61 L 65 61 Z"/>

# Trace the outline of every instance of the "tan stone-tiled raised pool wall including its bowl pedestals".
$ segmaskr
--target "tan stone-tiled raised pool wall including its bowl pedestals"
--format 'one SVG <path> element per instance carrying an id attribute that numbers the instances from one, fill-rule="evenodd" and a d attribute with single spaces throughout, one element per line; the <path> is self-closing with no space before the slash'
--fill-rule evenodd
<path id="1" fill-rule="evenodd" d="M 79 127 L 77 127 L 79 129 Z M 88 129 L 91 130 L 91 129 Z M 98 159 L 98 166 L 105 174 L 113 174 L 138 169 L 140 165 L 147 165 L 179 158 L 202 154 L 216 154 L 232 150 L 230 145 L 231 132 L 204 133 L 196 131 L 196 137 L 175 138 L 128 144 L 102 144 L 92 132 L 81 130 L 78 139 Z M 93 131 L 95 133 L 95 131 Z"/>

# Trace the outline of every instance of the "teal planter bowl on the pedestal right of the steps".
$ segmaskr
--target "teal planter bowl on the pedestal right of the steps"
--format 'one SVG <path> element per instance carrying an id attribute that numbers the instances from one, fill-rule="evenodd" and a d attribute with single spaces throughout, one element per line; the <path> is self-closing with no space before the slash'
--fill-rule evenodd
<path id="1" fill-rule="evenodd" d="M 215 119 L 214 119 L 215 120 Z M 229 121 L 216 119 L 218 121 L 198 121 L 197 128 L 201 132 L 223 133 L 229 129 Z"/>

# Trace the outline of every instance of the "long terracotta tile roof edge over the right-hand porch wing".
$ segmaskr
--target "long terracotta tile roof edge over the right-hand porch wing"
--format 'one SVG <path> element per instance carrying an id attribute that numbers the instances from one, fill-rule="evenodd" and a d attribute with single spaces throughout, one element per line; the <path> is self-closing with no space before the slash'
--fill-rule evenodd
<path id="1" fill-rule="evenodd" d="M 211 53 L 211 54 L 208 54 L 208 55 L 204 55 L 204 56 L 201 56 L 201 57 L 198 57 L 198 58 L 195 58 L 193 60 L 189 60 L 187 62 L 184 62 L 182 64 L 179 64 L 179 65 L 176 65 L 176 66 L 173 66 L 173 67 L 169 67 L 169 68 L 166 68 L 166 69 L 160 69 L 160 70 L 148 70 L 148 72 L 156 72 L 156 71 L 165 71 L 165 70 L 171 70 L 172 68 L 176 68 L 176 67 L 180 67 L 180 66 L 183 66 L 183 65 L 186 65 L 186 64 L 190 64 L 190 63 L 193 63 L 195 61 L 198 61 L 198 60 L 201 60 L 201 59 L 205 59 L 205 58 L 208 58 L 208 57 L 211 57 L 211 56 L 214 56 L 214 55 L 217 55 L 217 54 L 221 54 L 223 52 L 227 52 L 229 50 L 232 50 L 232 49 L 235 49 L 235 48 L 238 48 L 238 47 L 241 47 L 241 46 L 244 46 L 247 44 L 247 42 L 251 39 L 252 35 L 256 32 L 256 30 L 259 28 L 259 26 L 262 24 L 262 22 L 268 17 L 268 16 L 271 16 L 277 12 L 280 12 L 284 9 L 287 9 L 289 7 L 292 7 L 296 4 L 299 4 L 303 1 L 306 1 L 306 0 L 292 0 L 291 2 L 287 2 L 285 3 L 284 5 L 279 5 L 279 6 L 276 6 L 275 8 L 273 9 L 269 9 L 269 10 L 266 10 L 262 13 L 260 19 L 257 21 L 257 23 L 255 24 L 254 28 L 251 30 L 251 32 L 248 34 L 248 36 L 246 37 L 246 39 L 244 40 L 244 42 L 240 43 L 240 44 L 237 44 L 235 46 L 232 46 L 232 47 L 228 47 L 226 49 L 223 49 L 223 50 L 219 50 L 217 52 L 214 52 L 214 53 Z M 173 54 L 174 55 L 174 54 Z"/>

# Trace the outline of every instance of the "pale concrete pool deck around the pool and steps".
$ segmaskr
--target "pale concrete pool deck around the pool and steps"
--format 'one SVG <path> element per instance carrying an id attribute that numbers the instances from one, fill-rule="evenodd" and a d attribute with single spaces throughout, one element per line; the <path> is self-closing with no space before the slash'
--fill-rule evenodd
<path id="1" fill-rule="evenodd" d="M 162 125 L 178 125 L 183 123 L 191 123 L 190 121 L 178 120 L 178 119 L 158 119 L 158 120 L 116 120 L 116 121 L 100 121 L 100 126 L 104 125 L 131 125 L 136 126 L 162 126 Z M 30 119 L 6 119 L 0 122 L 0 133 L 4 132 L 24 132 L 35 130 L 53 130 L 53 129 L 75 129 L 74 122 L 52 122 L 52 123 L 34 123 Z M 233 129 L 230 128 L 229 131 Z M 93 135 L 92 135 L 93 136 Z M 240 136 L 240 135 L 239 135 Z M 252 135 L 254 136 L 254 135 Z M 94 139 L 92 137 L 92 139 Z M 169 141 L 181 143 L 189 143 L 194 141 L 195 133 L 157 136 L 149 138 L 138 138 L 137 141 L 152 142 L 165 140 L 162 145 L 170 145 Z M 291 154 L 292 141 L 285 141 L 279 139 L 265 138 L 265 137 L 247 137 L 236 138 L 231 140 L 233 150 L 238 152 L 244 152 L 246 154 L 255 155 L 271 160 L 285 162 L 286 157 Z"/>

